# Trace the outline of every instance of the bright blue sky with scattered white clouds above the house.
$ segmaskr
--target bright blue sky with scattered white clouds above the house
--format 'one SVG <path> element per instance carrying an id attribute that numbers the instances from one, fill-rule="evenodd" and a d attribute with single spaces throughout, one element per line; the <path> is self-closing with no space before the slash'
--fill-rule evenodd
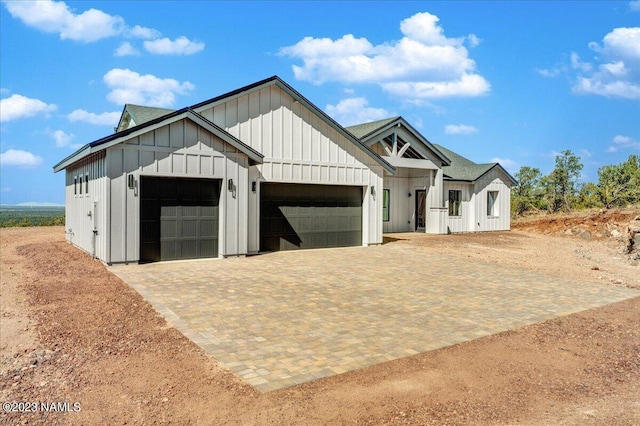
<path id="1" fill-rule="evenodd" d="M 181 108 L 278 75 L 341 124 L 401 115 L 507 170 L 640 154 L 640 1 L 3 1 L 0 200 L 64 203 L 52 166 L 125 103 Z"/>

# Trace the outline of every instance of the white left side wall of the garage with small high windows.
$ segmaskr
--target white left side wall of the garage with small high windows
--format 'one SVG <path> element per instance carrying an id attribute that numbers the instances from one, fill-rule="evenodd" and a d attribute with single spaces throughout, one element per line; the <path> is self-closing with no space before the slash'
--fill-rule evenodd
<path id="1" fill-rule="evenodd" d="M 105 202 L 108 181 L 104 153 L 90 156 L 68 167 L 65 179 L 66 239 L 87 253 L 104 259 L 107 253 L 108 219 Z M 94 230 L 97 232 L 94 233 Z"/>

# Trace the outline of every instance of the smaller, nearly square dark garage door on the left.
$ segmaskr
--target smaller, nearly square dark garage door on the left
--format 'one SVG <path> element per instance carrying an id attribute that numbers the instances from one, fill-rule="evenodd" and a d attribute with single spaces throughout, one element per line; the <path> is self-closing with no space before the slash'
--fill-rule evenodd
<path id="1" fill-rule="evenodd" d="M 140 178 L 140 260 L 218 255 L 220 180 Z"/>

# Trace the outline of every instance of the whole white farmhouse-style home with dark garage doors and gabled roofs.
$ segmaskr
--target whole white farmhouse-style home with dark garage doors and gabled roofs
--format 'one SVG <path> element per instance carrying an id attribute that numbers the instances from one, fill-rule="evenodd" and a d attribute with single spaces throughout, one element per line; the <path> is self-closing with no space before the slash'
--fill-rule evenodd
<path id="1" fill-rule="evenodd" d="M 514 183 L 401 117 L 345 129 L 276 76 L 177 111 L 126 105 L 62 170 L 67 239 L 106 263 L 509 229 Z"/>

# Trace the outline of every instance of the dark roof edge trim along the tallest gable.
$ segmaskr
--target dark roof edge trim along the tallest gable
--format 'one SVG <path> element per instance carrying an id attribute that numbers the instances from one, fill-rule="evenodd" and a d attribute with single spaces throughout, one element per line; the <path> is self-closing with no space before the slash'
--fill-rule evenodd
<path id="1" fill-rule="evenodd" d="M 282 80 L 277 75 L 271 76 L 264 80 L 257 81 L 253 84 L 249 84 L 248 86 L 241 87 L 239 89 L 233 90 L 229 93 L 225 93 L 220 96 L 216 96 L 215 98 L 211 98 L 209 100 L 199 102 L 195 105 L 192 105 L 190 108 L 196 111 L 200 111 L 204 109 L 204 107 L 220 104 L 223 102 L 227 102 L 233 98 L 237 98 L 243 96 L 249 92 L 254 92 L 256 90 L 260 90 L 265 87 L 269 87 L 272 85 L 278 86 L 280 89 L 284 90 L 286 93 L 291 96 L 294 101 L 300 102 L 307 109 L 315 113 L 318 117 L 320 117 L 324 122 L 329 124 L 334 130 L 340 133 L 342 136 L 346 137 L 350 142 L 354 143 L 357 147 L 362 149 L 367 155 L 369 155 L 372 159 L 374 159 L 378 164 L 380 164 L 386 171 L 391 174 L 395 174 L 396 169 L 387 161 L 385 161 L 382 157 L 380 157 L 375 151 L 369 148 L 367 145 L 362 143 L 360 139 L 351 134 L 347 129 L 342 127 L 337 121 L 327 115 L 320 108 L 315 106 L 311 101 L 305 98 L 300 92 L 298 92 L 293 87 L 289 86 L 284 80 Z"/>

